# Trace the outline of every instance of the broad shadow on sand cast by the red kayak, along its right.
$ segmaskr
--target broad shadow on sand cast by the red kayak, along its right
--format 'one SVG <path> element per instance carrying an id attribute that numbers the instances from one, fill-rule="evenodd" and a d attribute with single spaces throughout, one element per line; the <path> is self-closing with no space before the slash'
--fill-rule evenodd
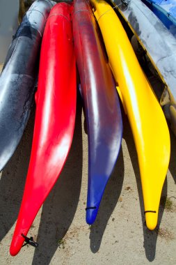
<path id="1" fill-rule="evenodd" d="M 77 210 L 83 165 L 81 114 L 81 99 L 78 97 L 72 146 L 63 171 L 42 207 L 37 238 L 39 247 L 35 248 L 33 265 L 50 264 Z"/>

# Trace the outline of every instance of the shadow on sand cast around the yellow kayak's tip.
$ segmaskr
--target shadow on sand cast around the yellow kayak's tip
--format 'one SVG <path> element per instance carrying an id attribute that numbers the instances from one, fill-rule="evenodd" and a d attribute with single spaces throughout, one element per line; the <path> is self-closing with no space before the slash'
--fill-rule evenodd
<path id="1" fill-rule="evenodd" d="M 162 190 L 162 206 L 159 206 L 159 218 L 158 218 L 158 225 L 157 228 L 154 229 L 153 231 L 150 231 L 147 229 L 147 226 L 145 225 L 145 215 L 144 215 L 144 206 L 143 206 L 143 191 L 142 191 L 142 186 L 141 186 L 141 175 L 139 172 L 139 167 L 138 167 L 138 156 L 136 153 L 136 147 L 134 144 L 134 138 L 131 132 L 131 128 L 129 126 L 129 121 L 126 116 L 126 121 L 125 121 L 125 133 L 124 133 L 124 138 L 127 144 L 127 148 L 129 151 L 129 156 L 131 158 L 131 163 L 134 169 L 134 173 L 136 176 L 136 184 L 138 188 L 138 197 L 139 197 L 139 202 L 141 206 L 141 221 L 143 222 L 143 248 L 145 249 L 145 256 L 149 262 L 152 262 L 155 258 L 156 255 L 156 246 L 157 246 L 157 238 L 158 238 L 158 233 L 159 233 L 159 226 L 161 223 L 163 211 L 164 211 L 164 206 L 166 203 L 166 197 L 167 197 L 167 179 L 163 184 L 163 190 Z M 130 140 L 129 140 L 130 139 Z"/>

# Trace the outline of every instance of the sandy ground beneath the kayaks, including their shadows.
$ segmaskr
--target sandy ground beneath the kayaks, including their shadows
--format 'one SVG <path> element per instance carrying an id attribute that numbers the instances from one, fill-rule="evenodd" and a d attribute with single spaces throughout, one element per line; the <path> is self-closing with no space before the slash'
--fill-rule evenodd
<path id="1" fill-rule="evenodd" d="M 176 140 L 163 186 L 159 227 L 145 227 L 134 140 L 127 116 L 118 162 L 106 186 L 97 220 L 86 225 L 88 139 L 81 100 L 72 149 L 63 172 L 29 231 L 38 248 L 10 257 L 9 246 L 22 200 L 33 137 L 35 109 L 14 156 L 0 176 L 0 264 L 176 264 Z M 167 198 L 167 199 L 166 199 Z"/>

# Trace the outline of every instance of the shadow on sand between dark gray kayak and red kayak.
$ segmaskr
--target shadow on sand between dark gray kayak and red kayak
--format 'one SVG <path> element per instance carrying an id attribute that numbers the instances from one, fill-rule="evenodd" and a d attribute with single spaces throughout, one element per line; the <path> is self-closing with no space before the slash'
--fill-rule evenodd
<path id="1" fill-rule="evenodd" d="M 15 153 L 4 167 L 0 180 L 0 241 L 17 220 L 31 156 L 35 107 Z"/>

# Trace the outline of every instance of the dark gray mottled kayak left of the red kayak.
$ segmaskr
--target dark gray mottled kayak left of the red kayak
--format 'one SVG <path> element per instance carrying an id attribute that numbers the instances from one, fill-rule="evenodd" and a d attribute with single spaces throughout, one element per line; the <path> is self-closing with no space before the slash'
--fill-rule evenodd
<path id="1" fill-rule="evenodd" d="M 53 3 L 37 0 L 17 29 L 0 76 L 0 170 L 13 156 L 29 119 L 45 22 Z"/>

